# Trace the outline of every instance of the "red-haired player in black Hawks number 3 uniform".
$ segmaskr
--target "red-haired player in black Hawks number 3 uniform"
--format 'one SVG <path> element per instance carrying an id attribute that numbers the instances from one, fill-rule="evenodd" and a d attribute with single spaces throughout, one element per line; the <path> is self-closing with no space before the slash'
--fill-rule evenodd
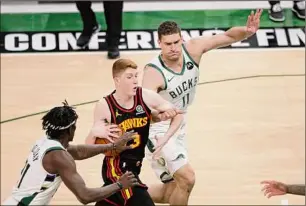
<path id="1" fill-rule="evenodd" d="M 101 99 L 94 111 L 95 123 L 107 121 L 119 125 L 124 131 L 137 133 L 135 139 L 128 142 L 132 147 L 116 157 L 105 156 L 102 165 L 102 177 L 105 185 L 117 182 L 126 171 L 132 171 L 139 186 L 121 190 L 96 205 L 152 206 L 146 185 L 139 179 L 145 147 L 148 141 L 152 112 L 160 119 L 172 118 L 171 126 L 164 139 L 169 139 L 180 127 L 182 115 L 179 110 L 154 91 L 138 87 L 137 65 L 128 59 L 119 59 L 113 65 L 115 90 Z M 163 113 L 159 114 L 158 113 Z M 118 131 L 115 125 L 105 126 L 105 131 Z M 107 134 L 106 134 L 107 135 Z M 113 135 L 114 136 L 114 135 Z M 89 134 L 87 144 L 94 144 L 95 137 Z M 165 142 L 166 143 L 166 142 Z"/>

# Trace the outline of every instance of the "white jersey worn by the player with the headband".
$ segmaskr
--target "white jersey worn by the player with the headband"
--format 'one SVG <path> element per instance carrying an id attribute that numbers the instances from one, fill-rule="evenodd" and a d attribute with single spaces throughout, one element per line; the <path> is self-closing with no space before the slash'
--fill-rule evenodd
<path id="1" fill-rule="evenodd" d="M 47 205 L 62 180 L 57 174 L 49 174 L 42 165 L 44 155 L 52 150 L 65 150 L 56 140 L 43 137 L 36 142 L 25 163 L 12 197 L 22 205 Z"/>

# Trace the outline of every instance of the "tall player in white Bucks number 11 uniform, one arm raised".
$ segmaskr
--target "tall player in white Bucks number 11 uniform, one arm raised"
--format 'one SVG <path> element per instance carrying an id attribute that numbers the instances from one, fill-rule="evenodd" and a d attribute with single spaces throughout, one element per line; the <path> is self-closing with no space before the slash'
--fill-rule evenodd
<path id="1" fill-rule="evenodd" d="M 211 37 L 200 36 L 183 42 L 179 26 L 172 21 L 158 28 L 161 53 L 144 69 L 143 88 L 158 92 L 178 109 L 187 111 L 192 104 L 199 82 L 199 64 L 204 53 L 249 38 L 258 30 L 262 10 L 252 12 L 246 26 L 233 27 Z M 221 57 L 220 57 L 221 60 Z M 195 183 L 195 174 L 188 163 L 185 145 L 186 119 L 168 143 L 163 138 L 169 121 L 155 123 L 150 128 L 146 156 L 163 184 L 149 187 L 156 203 L 187 205 Z M 160 156 L 159 154 L 160 152 Z"/>

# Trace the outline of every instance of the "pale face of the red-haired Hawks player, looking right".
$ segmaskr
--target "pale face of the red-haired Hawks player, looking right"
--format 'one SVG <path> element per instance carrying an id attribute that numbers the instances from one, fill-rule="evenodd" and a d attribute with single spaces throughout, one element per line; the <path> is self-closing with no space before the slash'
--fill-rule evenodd
<path id="1" fill-rule="evenodd" d="M 137 69 L 127 68 L 118 78 L 118 86 L 120 90 L 124 91 L 127 95 L 136 95 L 138 86 L 138 71 Z"/>

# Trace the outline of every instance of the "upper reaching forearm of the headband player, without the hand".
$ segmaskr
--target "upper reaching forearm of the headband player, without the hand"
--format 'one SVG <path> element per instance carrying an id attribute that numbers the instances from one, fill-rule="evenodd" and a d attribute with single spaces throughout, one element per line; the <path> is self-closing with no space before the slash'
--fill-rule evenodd
<path id="1" fill-rule="evenodd" d="M 75 160 L 83 160 L 105 153 L 113 149 L 113 144 L 97 144 L 97 145 L 69 145 L 67 151 Z"/>

